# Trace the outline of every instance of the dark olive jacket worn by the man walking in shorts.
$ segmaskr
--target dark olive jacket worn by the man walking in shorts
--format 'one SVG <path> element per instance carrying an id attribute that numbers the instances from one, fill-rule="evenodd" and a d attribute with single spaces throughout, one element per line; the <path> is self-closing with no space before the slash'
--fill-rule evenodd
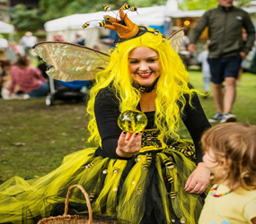
<path id="1" fill-rule="evenodd" d="M 209 57 L 234 56 L 251 50 L 255 39 L 255 30 L 250 15 L 234 6 L 228 11 L 218 5 L 203 14 L 190 33 L 190 43 L 195 44 L 201 32 L 208 27 L 210 39 Z M 247 32 L 247 41 L 243 44 L 243 28 Z"/>

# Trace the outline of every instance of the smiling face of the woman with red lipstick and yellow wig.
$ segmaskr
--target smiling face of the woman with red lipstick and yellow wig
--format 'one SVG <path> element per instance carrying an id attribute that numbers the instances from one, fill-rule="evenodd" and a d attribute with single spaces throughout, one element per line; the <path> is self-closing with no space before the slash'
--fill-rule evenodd
<path id="1" fill-rule="evenodd" d="M 128 55 L 128 70 L 134 82 L 151 86 L 161 73 L 161 63 L 156 51 L 137 47 Z"/>

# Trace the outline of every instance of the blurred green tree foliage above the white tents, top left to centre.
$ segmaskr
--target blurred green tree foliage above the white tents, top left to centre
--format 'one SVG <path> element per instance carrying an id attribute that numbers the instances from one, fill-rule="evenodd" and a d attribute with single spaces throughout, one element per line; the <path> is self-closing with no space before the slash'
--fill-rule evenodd
<path id="1" fill-rule="evenodd" d="M 24 4 L 17 4 L 8 10 L 13 25 L 19 31 L 36 31 L 43 27 L 44 22 L 75 13 L 94 13 L 103 11 L 102 5 L 107 4 L 111 10 L 118 10 L 123 4 L 134 4 L 137 7 L 149 7 L 154 4 L 165 4 L 166 0 L 40 0 L 39 9 L 28 9 Z M 92 18 L 94 19 L 94 18 Z"/>

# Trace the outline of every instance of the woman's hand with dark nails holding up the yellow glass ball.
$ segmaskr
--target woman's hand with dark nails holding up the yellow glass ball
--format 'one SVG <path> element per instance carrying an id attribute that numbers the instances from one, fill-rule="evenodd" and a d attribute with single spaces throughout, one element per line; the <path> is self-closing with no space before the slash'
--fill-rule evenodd
<path id="1" fill-rule="evenodd" d="M 116 153 L 119 157 L 129 158 L 140 151 L 141 147 L 141 136 L 140 133 L 126 133 L 122 132 L 119 136 L 118 148 Z"/>

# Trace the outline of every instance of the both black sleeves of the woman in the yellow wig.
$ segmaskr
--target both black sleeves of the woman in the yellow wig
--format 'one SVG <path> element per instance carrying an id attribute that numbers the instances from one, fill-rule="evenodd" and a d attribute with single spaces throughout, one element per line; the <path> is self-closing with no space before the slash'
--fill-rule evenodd
<path id="1" fill-rule="evenodd" d="M 210 127 L 207 117 L 200 105 L 199 98 L 195 94 L 191 99 L 193 108 L 190 107 L 189 98 L 184 108 L 184 116 L 181 119 L 190 132 L 190 136 L 195 143 L 197 162 L 202 161 L 202 151 L 199 146 L 201 134 Z M 116 154 L 119 135 L 121 130 L 117 123 L 119 117 L 119 100 L 114 92 L 109 88 L 99 91 L 95 99 L 94 111 L 99 133 L 102 138 L 102 147 L 97 152 L 104 157 L 111 159 L 119 158 Z"/>

